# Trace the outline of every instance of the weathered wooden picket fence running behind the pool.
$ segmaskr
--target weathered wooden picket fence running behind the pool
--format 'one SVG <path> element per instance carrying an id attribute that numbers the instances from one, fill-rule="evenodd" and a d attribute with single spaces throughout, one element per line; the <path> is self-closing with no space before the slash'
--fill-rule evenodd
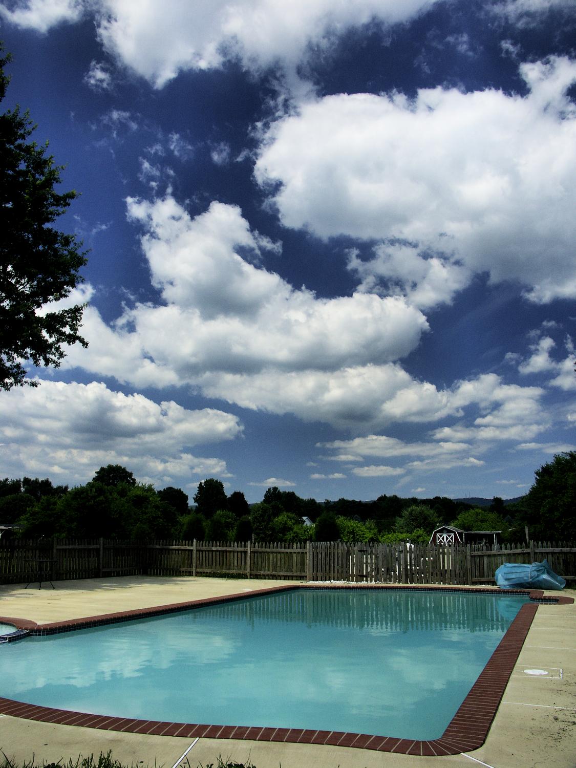
<path id="1" fill-rule="evenodd" d="M 380 584 L 492 584 L 504 562 L 548 559 L 576 580 L 574 543 L 492 548 L 247 541 L 0 539 L 0 584 L 118 576 L 230 576 Z"/>

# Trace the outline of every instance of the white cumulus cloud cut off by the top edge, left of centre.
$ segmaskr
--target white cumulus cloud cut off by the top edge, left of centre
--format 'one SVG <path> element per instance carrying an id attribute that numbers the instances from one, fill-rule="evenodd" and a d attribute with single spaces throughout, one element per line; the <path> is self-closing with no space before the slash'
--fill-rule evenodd
<path id="1" fill-rule="evenodd" d="M 157 88 L 179 71 L 220 67 L 240 56 L 250 68 L 280 62 L 296 72 L 311 42 L 347 28 L 406 21 L 425 0 L 101 0 L 98 35 L 111 55 Z"/>

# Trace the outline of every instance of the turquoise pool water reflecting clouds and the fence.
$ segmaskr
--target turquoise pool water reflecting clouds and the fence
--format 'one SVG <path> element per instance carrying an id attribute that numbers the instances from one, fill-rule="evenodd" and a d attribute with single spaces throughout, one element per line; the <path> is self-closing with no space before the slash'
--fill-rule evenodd
<path id="1" fill-rule="evenodd" d="M 442 735 L 528 598 L 294 590 L 0 647 L 0 694 L 164 720 Z"/>

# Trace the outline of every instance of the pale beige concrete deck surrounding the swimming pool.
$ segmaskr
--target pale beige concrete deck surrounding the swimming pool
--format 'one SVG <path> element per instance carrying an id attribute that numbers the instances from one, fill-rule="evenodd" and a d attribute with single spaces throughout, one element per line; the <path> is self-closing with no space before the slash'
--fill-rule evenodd
<path id="1" fill-rule="evenodd" d="M 25 618 L 38 624 L 132 611 L 158 605 L 221 597 L 264 587 L 286 586 L 286 581 L 218 578 L 126 577 L 60 581 L 55 590 L 32 584 L 0 585 L 0 615 Z M 574 590 L 546 593 L 576 596 Z M 22 763 L 50 763 L 64 757 L 76 760 L 112 750 L 122 763 L 190 768 L 216 763 L 217 756 L 239 762 L 250 759 L 257 768 L 372 768 L 372 766 L 491 766 L 491 768 L 574 768 L 576 766 L 576 608 L 540 604 L 524 647 L 511 674 L 502 703 L 484 745 L 452 756 L 412 757 L 349 747 L 278 742 L 250 742 L 162 737 L 139 733 L 94 730 L 23 720 L 0 713 L 0 749 Z M 526 669 L 545 670 L 529 675 Z M 1 689 L 1 683 L 0 683 Z M 1 694 L 0 690 L 0 694 Z M 190 745 L 194 746 L 184 757 Z"/>

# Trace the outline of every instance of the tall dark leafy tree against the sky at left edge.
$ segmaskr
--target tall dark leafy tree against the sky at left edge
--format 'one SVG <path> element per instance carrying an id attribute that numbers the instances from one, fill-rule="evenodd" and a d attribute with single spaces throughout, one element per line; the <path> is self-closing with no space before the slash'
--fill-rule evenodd
<path id="1" fill-rule="evenodd" d="M 0 47 L 2 54 L 2 47 Z M 0 57 L 0 101 L 9 78 Z M 19 107 L 0 114 L 0 389 L 38 386 L 26 380 L 22 362 L 58 367 L 63 345 L 80 343 L 84 304 L 49 306 L 70 295 L 83 278 L 82 243 L 51 224 L 77 193 L 59 193 L 63 166 L 47 154 L 48 144 L 28 141 L 35 131 Z"/>

